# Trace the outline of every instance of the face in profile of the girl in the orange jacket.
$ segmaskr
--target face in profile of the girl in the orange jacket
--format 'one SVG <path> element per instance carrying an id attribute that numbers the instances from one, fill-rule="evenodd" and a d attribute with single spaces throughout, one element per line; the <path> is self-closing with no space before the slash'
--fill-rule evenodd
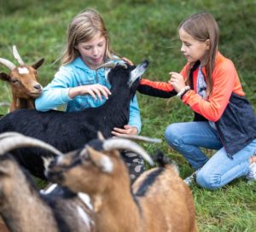
<path id="1" fill-rule="evenodd" d="M 207 50 L 209 50 L 209 39 L 204 42 L 196 40 L 189 33 L 185 32 L 183 28 L 180 28 L 178 33 L 182 42 L 181 52 L 185 55 L 187 61 L 201 61 L 201 63 L 204 63 L 205 55 Z"/>

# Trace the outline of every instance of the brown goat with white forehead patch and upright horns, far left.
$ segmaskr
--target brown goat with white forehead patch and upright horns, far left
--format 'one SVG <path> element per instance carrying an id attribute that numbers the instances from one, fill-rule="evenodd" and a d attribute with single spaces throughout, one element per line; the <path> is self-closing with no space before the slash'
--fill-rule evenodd
<path id="1" fill-rule="evenodd" d="M 34 99 L 41 95 L 43 87 L 38 83 L 37 69 L 40 67 L 44 58 L 32 66 L 28 66 L 22 61 L 16 46 L 13 46 L 15 59 L 20 66 L 6 59 L 0 58 L 0 64 L 8 67 L 10 73 L 0 73 L 0 79 L 9 82 L 12 91 L 12 102 L 9 111 L 20 108 L 34 108 Z"/>

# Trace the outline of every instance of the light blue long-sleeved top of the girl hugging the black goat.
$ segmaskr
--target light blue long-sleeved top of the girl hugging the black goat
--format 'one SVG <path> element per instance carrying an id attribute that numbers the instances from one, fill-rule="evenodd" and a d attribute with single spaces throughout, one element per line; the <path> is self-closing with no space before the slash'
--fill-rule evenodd
<path id="1" fill-rule="evenodd" d="M 100 107 L 106 101 L 102 96 L 102 102 L 94 99 L 90 95 L 76 96 L 71 99 L 68 96 L 70 88 L 84 84 L 102 84 L 110 89 L 110 84 L 105 77 L 103 68 L 97 72 L 87 67 L 80 57 L 73 62 L 60 67 L 55 73 L 55 78 L 44 87 L 43 94 L 35 101 L 38 111 L 49 111 L 50 109 L 66 105 L 67 112 L 80 111 L 88 107 Z M 142 122 L 140 110 L 137 103 L 137 96 L 134 96 L 130 103 L 130 117 L 128 125 L 137 127 L 138 133 L 141 131 Z"/>

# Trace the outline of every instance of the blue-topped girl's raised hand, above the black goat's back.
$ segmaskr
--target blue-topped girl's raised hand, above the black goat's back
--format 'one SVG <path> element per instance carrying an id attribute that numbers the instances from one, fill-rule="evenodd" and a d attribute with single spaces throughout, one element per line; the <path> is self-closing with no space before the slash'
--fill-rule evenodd
<path id="1" fill-rule="evenodd" d="M 68 92 L 70 98 L 75 96 L 90 95 L 94 99 L 100 99 L 102 101 L 102 96 L 108 99 L 108 95 L 111 95 L 110 90 L 102 84 L 86 84 L 71 88 Z"/>

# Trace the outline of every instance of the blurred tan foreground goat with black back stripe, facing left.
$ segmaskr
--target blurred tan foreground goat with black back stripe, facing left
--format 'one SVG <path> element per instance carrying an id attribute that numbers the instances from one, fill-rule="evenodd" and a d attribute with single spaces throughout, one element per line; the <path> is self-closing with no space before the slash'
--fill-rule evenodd
<path id="1" fill-rule="evenodd" d="M 131 190 L 119 155 L 127 147 L 134 145 L 120 138 L 91 141 L 84 149 L 55 159 L 47 177 L 73 192 L 89 194 L 97 232 L 197 231 L 193 197 L 176 166 L 163 164 L 145 171 Z"/>

